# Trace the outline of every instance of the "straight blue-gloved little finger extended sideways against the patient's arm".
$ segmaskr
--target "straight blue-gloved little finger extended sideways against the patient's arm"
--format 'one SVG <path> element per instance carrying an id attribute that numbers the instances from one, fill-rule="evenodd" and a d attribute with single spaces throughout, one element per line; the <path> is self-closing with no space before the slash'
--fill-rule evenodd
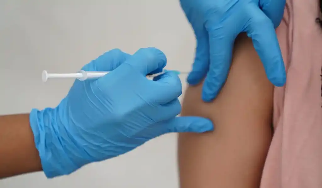
<path id="1" fill-rule="evenodd" d="M 213 123 L 206 118 L 196 116 L 175 117 L 165 121 L 161 126 L 167 128 L 167 132 L 207 132 L 213 131 Z"/>

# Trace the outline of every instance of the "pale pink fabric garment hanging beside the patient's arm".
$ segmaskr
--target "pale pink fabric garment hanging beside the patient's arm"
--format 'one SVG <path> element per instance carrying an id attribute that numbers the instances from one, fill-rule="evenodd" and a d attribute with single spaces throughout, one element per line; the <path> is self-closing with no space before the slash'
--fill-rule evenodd
<path id="1" fill-rule="evenodd" d="M 274 136 L 261 188 L 322 188 L 322 29 L 319 0 L 287 0 L 277 29 L 287 70 L 274 90 Z"/>

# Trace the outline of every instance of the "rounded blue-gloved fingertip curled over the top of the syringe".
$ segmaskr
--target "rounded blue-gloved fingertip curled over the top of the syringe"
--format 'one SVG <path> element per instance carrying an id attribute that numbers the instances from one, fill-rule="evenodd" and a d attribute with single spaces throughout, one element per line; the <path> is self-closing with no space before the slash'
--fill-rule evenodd
<path id="1" fill-rule="evenodd" d="M 130 65 L 130 69 L 146 76 L 153 71 L 162 70 L 166 66 L 166 55 L 154 47 L 141 48 L 131 58 L 128 58 L 124 65 Z"/>

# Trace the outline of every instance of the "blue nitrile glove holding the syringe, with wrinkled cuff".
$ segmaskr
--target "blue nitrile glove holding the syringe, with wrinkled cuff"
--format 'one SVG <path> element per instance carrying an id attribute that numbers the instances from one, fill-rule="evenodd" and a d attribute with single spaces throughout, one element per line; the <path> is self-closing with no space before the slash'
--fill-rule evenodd
<path id="1" fill-rule="evenodd" d="M 85 164 L 126 153 L 168 132 L 213 130 L 210 120 L 176 117 L 181 81 L 167 72 L 156 81 L 166 56 L 156 48 L 133 56 L 111 50 L 85 71 L 111 71 L 97 80 L 76 80 L 56 108 L 33 109 L 30 124 L 47 177 L 66 175 Z"/>

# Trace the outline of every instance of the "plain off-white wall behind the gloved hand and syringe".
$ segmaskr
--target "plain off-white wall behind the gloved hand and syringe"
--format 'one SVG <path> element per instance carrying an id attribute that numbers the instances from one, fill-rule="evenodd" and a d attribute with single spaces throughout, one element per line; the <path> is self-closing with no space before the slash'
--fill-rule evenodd
<path id="1" fill-rule="evenodd" d="M 110 49 L 141 47 L 165 52 L 168 69 L 190 70 L 194 35 L 178 0 L 0 0 L 0 114 L 60 102 L 72 81 L 44 84 L 44 69 L 73 72 Z M 34 173 L 0 187 L 177 188 L 176 165 L 176 135 L 168 134 L 69 176 Z"/>

